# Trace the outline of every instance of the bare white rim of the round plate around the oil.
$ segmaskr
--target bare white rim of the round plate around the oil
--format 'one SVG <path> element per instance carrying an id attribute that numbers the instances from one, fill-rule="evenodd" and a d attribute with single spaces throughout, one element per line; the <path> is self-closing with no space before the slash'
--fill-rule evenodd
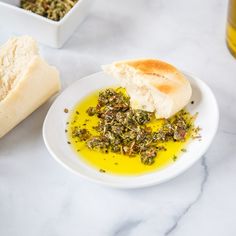
<path id="1" fill-rule="evenodd" d="M 187 110 L 192 114 L 199 112 L 196 125 L 202 128 L 202 140 L 192 140 L 188 145 L 188 151 L 183 153 L 172 165 L 139 176 L 104 174 L 86 165 L 67 144 L 65 128 L 68 116 L 63 110 L 64 108 L 72 110 L 76 103 L 95 90 L 117 84 L 114 79 L 103 72 L 76 81 L 65 89 L 53 103 L 43 125 L 43 138 L 48 151 L 55 160 L 73 173 L 93 182 L 112 187 L 139 188 L 174 178 L 192 166 L 206 152 L 216 133 L 219 120 L 217 102 L 210 88 L 203 81 L 188 73 L 184 74 L 191 83 L 193 89 L 191 100 L 194 100 L 194 104 L 189 104 Z"/>

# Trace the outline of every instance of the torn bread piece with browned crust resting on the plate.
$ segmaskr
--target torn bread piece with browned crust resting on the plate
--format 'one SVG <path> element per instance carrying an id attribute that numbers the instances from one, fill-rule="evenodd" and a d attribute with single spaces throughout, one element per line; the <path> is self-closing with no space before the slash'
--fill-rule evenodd
<path id="1" fill-rule="evenodd" d="M 134 109 L 155 112 L 156 118 L 169 118 L 191 98 L 189 81 L 174 66 L 156 59 L 114 62 L 103 70 L 119 79 Z"/>

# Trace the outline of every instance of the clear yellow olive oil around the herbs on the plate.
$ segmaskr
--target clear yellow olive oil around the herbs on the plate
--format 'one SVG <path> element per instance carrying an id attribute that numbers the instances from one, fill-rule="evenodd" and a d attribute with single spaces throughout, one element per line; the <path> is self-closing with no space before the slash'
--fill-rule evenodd
<path id="1" fill-rule="evenodd" d="M 163 146 L 167 150 L 159 151 L 152 165 L 144 165 L 138 156 L 129 157 L 117 153 L 103 153 L 89 149 L 85 142 L 72 138 L 72 130 L 76 126 L 88 129 L 93 135 L 97 134 L 93 127 L 97 126 L 98 118 L 89 116 L 86 111 L 88 107 L 97 105 L 98 95 L 99 91 L 92 93 L 79 102 L 74 110 L 70 111 L 67 127 L 68 141 L 74 151 L 78 153 L 78 158 L 81 158 L 98 171 L 118 175 L 138 175 L 156 171 L 173 163 L 176 157 L 181 154 L 181 150 L 185 149 L 188 138 L 185 142 L 165 142 Z M 162 123 L 162 120 L 155 119 L 148 126 L 153 130 L 157 130 Z"/>

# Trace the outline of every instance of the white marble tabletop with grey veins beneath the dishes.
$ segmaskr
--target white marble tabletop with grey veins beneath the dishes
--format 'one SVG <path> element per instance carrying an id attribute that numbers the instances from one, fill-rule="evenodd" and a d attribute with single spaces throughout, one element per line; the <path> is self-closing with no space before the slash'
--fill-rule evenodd
<path id="1" fill-rule="evenodd" d="M 97 0 L 61 50 L 41 46 L 63 88 L 113 60 L 157 57 L 208 83 L 220 126 L 201 161 L 151 188 L 115 190 L 58 165 L 41 129 L 45 104 L 0 140 L 1 236 L 236 235 L 236 60 L 225 0 Z M 0 42 L 12 32 L 0 29 Z"/>

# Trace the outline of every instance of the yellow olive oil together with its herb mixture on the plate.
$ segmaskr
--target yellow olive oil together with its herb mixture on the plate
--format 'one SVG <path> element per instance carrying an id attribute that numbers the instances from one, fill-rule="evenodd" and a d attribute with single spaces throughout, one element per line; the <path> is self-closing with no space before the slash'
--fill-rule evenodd
<path id="1" fill-rule="evenodd" d="M 68 112 L 68 110 L 66 111 Z M 134 110 L 125 89 L 106 89 L 86 97 L 71 112 L 68 144 L 101 172 L 141 174 L 163 168 L 197 137 L 196 116 L 181 110 L 170 119 Z"/>

